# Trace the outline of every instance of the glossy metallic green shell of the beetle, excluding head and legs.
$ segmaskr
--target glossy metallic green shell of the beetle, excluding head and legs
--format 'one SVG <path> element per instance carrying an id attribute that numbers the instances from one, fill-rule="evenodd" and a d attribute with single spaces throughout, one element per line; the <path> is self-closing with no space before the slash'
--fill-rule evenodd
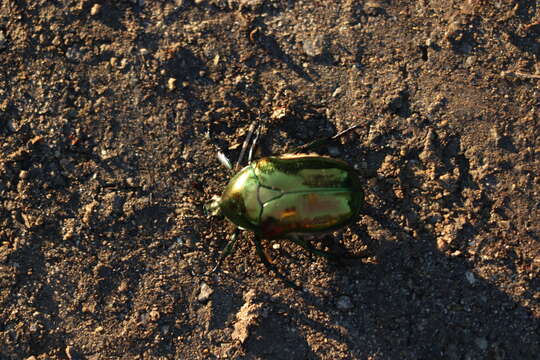
<path id="1" fill-rule="evenodd" d="M 341 227 L 357 217 L 363 199 L 347 163 L 300 154 L 253 161 L 231 179 L 219 206 L 237 226 L 278 238 Z"/>

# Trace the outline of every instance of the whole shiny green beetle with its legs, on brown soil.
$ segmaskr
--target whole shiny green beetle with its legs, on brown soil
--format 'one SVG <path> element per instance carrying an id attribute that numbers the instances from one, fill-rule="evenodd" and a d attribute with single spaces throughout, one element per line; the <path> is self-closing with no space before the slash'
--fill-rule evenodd
<path id="1" fill-rule="evenodd" d="M 358 126 L 312 141 L 289 154 L 252 160 L 260 129 L 253 123 L 235 168 L 255 133 L 247 166 L 230 179 L 221 197 L 214 197 L 206 206 L 212 215 L 222 214 L 237 227 L 210 273 L 231 253 L 238 240 L 238 230 L 254 233 L 253 242 L 263 264 L 294 288 L 298 286 L 268 259 L 261 239 L 289 239 L 315 255 L 336 258 L 335 254 L 314 248 L 298 235 L 333 231 L 356 220 L 364 202 L 360 177 L 345 161 L 304 151 L 337 139 Z M 225 155 L 218 153 L 218 159 L 233 169 Z"/>

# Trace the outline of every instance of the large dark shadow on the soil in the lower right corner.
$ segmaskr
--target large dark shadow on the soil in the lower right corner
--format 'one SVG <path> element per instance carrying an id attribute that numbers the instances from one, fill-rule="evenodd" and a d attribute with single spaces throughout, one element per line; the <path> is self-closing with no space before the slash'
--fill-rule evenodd
<path id="1" fill-rule="evenodd" d="M 298 328 L 321 332 L 330 342 L 344 342 L 359 357 L 384 349 L 384 357 L 400 358 L 393 349 L 403 349 L 402 343 L 409 344 L 411 351 L 405 358 L 486 353 L 495 358 L 531 358 L 537 353 L 535 331 L 540 319 L 531 308 L 489 281 L 467 275 L 472 274 L 471 264 L 442 254 L 435 237 L 415 239 L 373 206 L 366 208 L 365 216 L 399 241 L 382 241 L 376 264 L 357 263 L 343 271 L 328 263 L 328 271 L 334 273 L 328 286 L 310 285 L 308 291 L 298 292 L 303 307 L 318 309 L 339 327 L 318 321 L 286 297 L 273 303 L 274 309 L 283 308 L 298 319 Z M 363 232 L 360 227 L 359 234 L 364 236 Z M 343 295 L 351 304 L 340 309 Z M 401 345 L 393 346 L 396 342 Z"/>

